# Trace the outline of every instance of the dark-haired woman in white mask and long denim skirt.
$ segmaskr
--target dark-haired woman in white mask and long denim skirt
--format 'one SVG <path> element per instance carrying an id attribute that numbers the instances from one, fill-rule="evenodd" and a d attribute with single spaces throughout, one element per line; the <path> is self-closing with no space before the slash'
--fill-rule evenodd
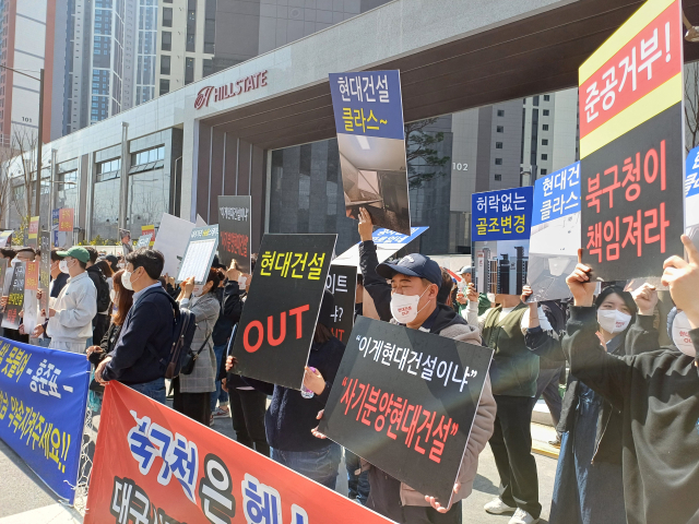
<path id="1" fill-rule="evenodd" d="M 649 284 L 633 295 L 608 286 L 596 297 L 600 340 L 611 355 L 657 348 L 653 310 L 657 293 Z M 565 356 L 562 353 L 560 357 Z M 624 522 L 621 414 L 572 374 L 564 398 L 562 433 L 549 522 Z"/>

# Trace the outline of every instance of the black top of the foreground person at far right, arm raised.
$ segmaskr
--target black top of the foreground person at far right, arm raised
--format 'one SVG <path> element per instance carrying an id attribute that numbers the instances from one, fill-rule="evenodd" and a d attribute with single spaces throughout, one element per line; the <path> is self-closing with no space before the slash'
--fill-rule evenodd
<path id="1" fill-rule="evenodd" d="M 570 371 L 621 413 L 628 524 L 699 522 L 699 373 L 674 347 L 616 356 L 595 334 L 595 308 L 570 308 Z M 699 348 L 699 330 L 689 336 Z"/>

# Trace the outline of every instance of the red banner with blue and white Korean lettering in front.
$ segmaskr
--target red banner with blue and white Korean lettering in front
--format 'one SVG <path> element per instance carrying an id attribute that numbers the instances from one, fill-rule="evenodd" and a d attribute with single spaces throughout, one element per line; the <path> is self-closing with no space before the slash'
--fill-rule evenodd
<path id="1" fill-rule="evenodd" d="M 356 524 L 382 516 L 112 382 L 85 524 Z"/>

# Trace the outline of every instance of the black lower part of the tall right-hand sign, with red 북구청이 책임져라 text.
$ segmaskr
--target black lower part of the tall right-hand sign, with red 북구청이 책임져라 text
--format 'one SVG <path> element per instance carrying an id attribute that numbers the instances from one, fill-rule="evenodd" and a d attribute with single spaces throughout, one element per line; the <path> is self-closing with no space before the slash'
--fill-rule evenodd
<path id="1" fill-rule="evenodd" d="M 660 276 L 683 255 L 682 104 L 580 160 L 582 262 L 601 281 Z"/>

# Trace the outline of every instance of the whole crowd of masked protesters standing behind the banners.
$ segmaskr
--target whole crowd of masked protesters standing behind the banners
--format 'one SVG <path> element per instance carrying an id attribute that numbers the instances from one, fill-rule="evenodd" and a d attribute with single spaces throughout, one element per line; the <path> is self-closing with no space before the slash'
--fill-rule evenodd
<path id="1" fill-rule="evenodd" d="M 450 505 L 344 450 L 350 498 L 398 523 L 460 523 L 462 500 L 473 490 L 478 456 L 489 444 L 500 487 L 484 511 L 511 514 L 510 524 L 537 522 L 542 503 L 530 425 L 543 395 L 557 424 L 552 444 L 560 446 L 550 523 L 699 519 L 699 252 L 687 237 L 688 261 L 668 259 L 663 284 L 676 306 L 668 334 L 672 322 L 685 322 L 692 344 L 661 347 L 657 291 L 649 284 L 632 294 L 616 285 L 600 291 L 590 269 L 578 264 L 567 279 L 569 303 L 526 301 L 526 286 L 521 297 L 488 297 L 476 293 L 471 267 L 458 272 L 457 284 L 422 254 L 379 263 L 372 229 L 362 210 L 355 315 L 370 298 L 382 321 L 484 345 L 494 357 Z M 164 275 L 163 254 L 133 249 L 128 231 L 122 243 L 122 257 L 80 246 L 44 254 L 27 247 L 0 249 L 0 258 L 10 261 L 5 289 L 17 261 L 50 258 L 48 310 L 38 325 L 22 323 L 3 336 L 85 354 L 97 394 L 119 381 L 163 404 L 170 396 L 176 410 L 203 425 L 229 418 L 238 442 L 334 489 L 343 450 L 317 430 L 344 354 L 330 330 L 333 295 L 327 290 L 322 298 L 299 392 L 241 377 L 237 360 L 226 357 L 257 254 L 250 274 L 215 258 L 205 283 L 197 286 L 193 277 L 176 283 Z M 189 329 L 182 326 L 187 319 Z M 166 380 L 178 325 L 189 333 L 189 361 Z"/>

